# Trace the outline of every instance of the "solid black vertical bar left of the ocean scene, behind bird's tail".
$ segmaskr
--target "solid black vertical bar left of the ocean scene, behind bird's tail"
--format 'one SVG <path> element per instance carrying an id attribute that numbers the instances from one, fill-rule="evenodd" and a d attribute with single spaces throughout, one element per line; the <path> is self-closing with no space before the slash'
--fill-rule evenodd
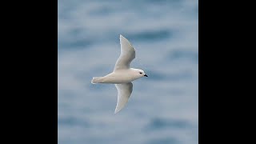
<path id="1" fill-rule="evenodd" d="M 58 0 L 2 8 L 2 138 L 58 143 Z"/>

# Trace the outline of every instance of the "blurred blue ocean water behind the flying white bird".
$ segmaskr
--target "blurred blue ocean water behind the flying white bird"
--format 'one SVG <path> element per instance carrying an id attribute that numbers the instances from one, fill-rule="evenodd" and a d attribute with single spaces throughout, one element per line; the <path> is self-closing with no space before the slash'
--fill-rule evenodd
<path id="1" fill-rule="evenodd" d="M 119 34 L 149 77 L 114 114 Z M 198 143 L 198 0 L 58 0 L 58 143 Z"/>

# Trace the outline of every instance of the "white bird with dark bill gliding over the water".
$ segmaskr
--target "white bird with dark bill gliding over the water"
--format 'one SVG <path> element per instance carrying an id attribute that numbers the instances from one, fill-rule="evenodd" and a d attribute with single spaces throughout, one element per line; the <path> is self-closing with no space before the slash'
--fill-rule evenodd
<path id="1" fill-rule="evenodd" d="M 130 68 L 130 62 L 135 58 L 134 47 L 120 34 L 121 54 L 115 63 L 112 73 L 104 77 L 94 77 L 91 83 L 111 83 L 115 84 L 118 90 L 118 102 L 114 114 L 122 110 L 130 98 L 133 91 L 133 81 L 148 77 L 143 70 Z"/>

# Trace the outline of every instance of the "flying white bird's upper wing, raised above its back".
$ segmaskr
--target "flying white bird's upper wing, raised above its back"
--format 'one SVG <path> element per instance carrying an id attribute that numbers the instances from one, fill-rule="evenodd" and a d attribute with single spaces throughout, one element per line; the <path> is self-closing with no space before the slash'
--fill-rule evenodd
<path id="1" fill-rule="evenodd" d="M 129 69 L 130 62 L 135 58 L 134 47 L 120 34 L 121 54 L 115 63 L 114 70 Z"/>

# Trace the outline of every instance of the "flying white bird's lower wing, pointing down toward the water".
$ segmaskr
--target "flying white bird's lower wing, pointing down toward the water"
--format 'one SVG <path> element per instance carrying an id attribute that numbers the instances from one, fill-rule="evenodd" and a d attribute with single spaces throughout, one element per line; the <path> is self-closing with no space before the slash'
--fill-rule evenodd
<path id="1" fill-rule="evenodd" d="M 115 84 L 116 88 L 118 89 L 118 103 L 114 110 L 114 114 L 118 113 L 118 111 L 122 110 L 126 103 L 130 98 L 130 94 L 133 91 L 133 83 L 122 83 L 122 84 Z"/>

